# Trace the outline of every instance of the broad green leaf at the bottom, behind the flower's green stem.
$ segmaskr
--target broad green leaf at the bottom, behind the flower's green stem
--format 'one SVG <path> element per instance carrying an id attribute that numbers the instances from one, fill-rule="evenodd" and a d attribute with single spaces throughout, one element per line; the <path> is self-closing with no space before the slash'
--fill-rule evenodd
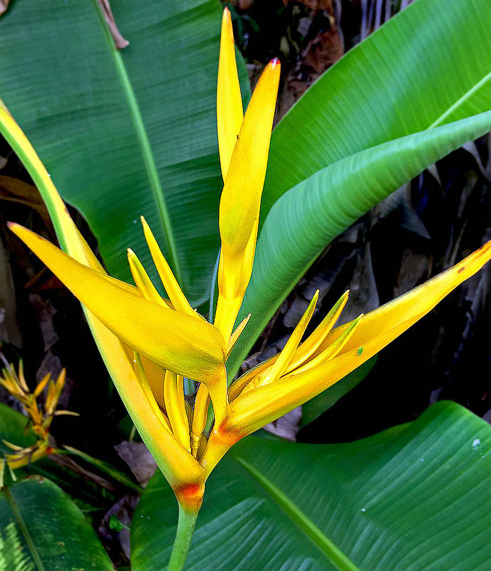
<path id="1" fill-rule="evenodd" d="M 455 403 L 354 443 L 247 438 L 210 476 L 185 569 L 486 571 L 490 485 L 491 427 Z M 134 571 L 165 570 L 176 522 L 155 475 L 133 520 Z"/>

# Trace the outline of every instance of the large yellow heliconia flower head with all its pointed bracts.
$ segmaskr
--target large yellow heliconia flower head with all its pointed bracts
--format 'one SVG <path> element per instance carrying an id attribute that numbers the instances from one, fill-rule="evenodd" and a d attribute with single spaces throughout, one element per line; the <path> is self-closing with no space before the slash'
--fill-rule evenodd
<path id="1" fill-rule="evenodd" d="M 128 263 L 136 287 L 105 273 L 24 133 L 0 106 L 2 132 L 41 189 L 66 252 L 18 224 L 10 228 L 83 303 L 121 398 L 187 514 L 200 509 L 208 475 L 237 440 L 378 353 L 491 258 L 490 242 L 419 288 L 334 328 L 348 301 L 346 292 L 302 343 L 316 293 L 281 353 L 227 388 L 224 365 L 250 317 L 234 330 L 252 275 L 279 71 L 276 60 L 266 66 L 244 115 L 232 23 L 225 9 L 217 85 L 222 249 L 213 324 L 188 303 L 143 218 L 145 239 L 169 299 L 157 293 L 131 250 Z M 184 395 L 184 378 L 200 382 L 194 401 Z M 215 423 L 205 433 L 210 399 Z"/>

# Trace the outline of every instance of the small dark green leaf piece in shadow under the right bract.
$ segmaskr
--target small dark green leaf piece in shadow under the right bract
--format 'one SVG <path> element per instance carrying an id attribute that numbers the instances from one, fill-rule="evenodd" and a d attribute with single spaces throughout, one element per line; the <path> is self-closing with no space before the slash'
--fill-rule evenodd
<path id="1" fill-rule="evenodd" d="M 306 403 L 301 405 L 300 428 L 308 425 L 312 420 L 316 420 L 326 410 L 329 410 L 331 406 L 334 406 L 340 398 L 355 388 L 358 383 L 361 383 L 373 369 L 376 362 L 377 355 L 360 365 L 343 379 L 338 380 L 337 383 L 324 390 L 320 395 L 307 400 Z"/>

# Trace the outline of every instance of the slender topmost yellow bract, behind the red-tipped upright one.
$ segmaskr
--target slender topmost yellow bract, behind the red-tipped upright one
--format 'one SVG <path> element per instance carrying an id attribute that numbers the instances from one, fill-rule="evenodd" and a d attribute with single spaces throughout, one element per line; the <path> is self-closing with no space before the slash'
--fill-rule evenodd
<path id="1" fill-rule="evenodd" d="M 239 76 L 235 61 L 234 31 L 229 9 L 225 8 L 222 16 L 217 84 L 218 148 L 224 181 L 227 178 L 230 159 L 243 118 L 244 111 L 242 111 Z"/>

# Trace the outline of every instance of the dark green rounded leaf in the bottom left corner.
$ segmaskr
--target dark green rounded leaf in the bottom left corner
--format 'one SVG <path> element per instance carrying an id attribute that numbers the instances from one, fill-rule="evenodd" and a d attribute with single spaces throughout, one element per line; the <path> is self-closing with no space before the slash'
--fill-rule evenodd
<path id="1" fill-rule="evenodd" d="M 113 571 L 82 512 L 60 490 L 30 477 L 0 492 L 0 569 Z"/>

